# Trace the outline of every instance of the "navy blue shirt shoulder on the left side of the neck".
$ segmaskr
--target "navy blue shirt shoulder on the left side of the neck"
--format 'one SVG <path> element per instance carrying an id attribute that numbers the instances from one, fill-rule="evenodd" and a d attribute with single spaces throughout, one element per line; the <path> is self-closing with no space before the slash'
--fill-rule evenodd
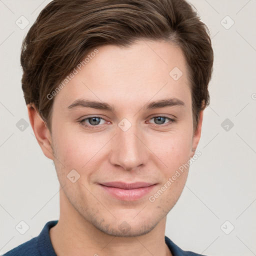
<path id="1" fill-rule="evenodd" d="M 40 234 L 17 247 L 7 251 L 2 256 L 55 256 L 52 248 L 49 229 L 57 223 L 57 220 L 48 221 Z"/>

